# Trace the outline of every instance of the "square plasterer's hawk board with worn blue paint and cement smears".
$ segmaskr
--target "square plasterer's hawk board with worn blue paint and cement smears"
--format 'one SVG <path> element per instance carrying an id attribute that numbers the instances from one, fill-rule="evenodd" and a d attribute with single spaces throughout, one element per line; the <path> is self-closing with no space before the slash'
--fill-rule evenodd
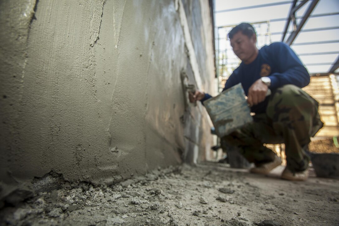
<path id="1" fill-rule="evenodd" d="M 204 106 L 219 137 L 230 134 L 246 123 L 253 122 L 251 109 L 247 104 L 241 83 L 205 100 Z"/>

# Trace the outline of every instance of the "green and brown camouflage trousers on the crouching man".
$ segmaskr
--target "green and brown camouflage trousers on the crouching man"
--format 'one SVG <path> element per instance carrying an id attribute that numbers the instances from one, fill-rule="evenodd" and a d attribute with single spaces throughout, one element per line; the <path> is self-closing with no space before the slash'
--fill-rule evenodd
<path id="1" fill-rule="evenodd" d="M 285 85 L 270 96 L 266 113 L 253 117 L 253 123 L 221 138 L 224 150 L 235 148 L 260 165 L 276 155 L 264 144 L 285 144 L 287 167 L 293 172 L 307 168 L 310 157 L 305 149 L 323 126 L 315 99 L 299 87 Z"/>

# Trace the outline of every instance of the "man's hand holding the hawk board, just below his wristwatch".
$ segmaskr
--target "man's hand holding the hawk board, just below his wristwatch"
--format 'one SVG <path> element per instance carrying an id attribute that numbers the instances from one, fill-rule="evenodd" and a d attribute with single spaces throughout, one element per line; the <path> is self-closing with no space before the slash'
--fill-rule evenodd
<path id="1" fill-rule="evenodd" d="M 259 78 L 252 84 L 250 89 L 248 89 L 247 103 L 252 107 L 253 105 L 257 105 L 258 103 L 264 101 L 267 90 L 267 85 L 264 84 Z"/>

